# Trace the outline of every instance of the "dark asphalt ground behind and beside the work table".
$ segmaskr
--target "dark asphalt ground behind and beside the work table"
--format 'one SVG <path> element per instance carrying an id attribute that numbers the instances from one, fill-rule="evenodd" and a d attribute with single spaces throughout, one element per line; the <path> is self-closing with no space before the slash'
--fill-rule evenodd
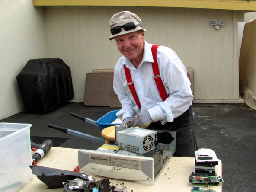
<path id="1" fill-rule="evenodd" d="M 96 121 L 115 109 L 120 108 L 68 103 L 45 114 L 22 112 L 0 122 L 31 123 L 31 140 L 37 143 L 49 138 L 56 147 L 96 150 L 101 144 L 48 128 L 48 124 L 101 137 L 99 127 L 72 117 L 70 112 Z M 195 103 L 193 109 L 198 148 L 211 148 L 222 161 L 223 191 L 256 191 L 256 111 L 242 109 L 240 104 Z"/>

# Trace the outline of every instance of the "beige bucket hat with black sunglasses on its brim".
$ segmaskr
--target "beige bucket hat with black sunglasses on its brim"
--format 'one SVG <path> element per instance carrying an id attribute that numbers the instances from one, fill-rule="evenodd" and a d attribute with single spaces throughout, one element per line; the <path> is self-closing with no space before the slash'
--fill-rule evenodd
<path id="1" fill-rule="evenodd" d="M 124 35 L 139 30 L 146 31 L 141 28 L 141 19 L 130 11 L 121 11 L 116 13 L 109 20 L 110 32 L 109 40 L 119 35 Z"/>

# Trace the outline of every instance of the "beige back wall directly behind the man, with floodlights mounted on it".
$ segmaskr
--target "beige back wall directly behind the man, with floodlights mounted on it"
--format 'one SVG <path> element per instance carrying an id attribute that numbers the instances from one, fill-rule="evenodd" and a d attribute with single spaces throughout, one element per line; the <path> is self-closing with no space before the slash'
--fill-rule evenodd
<path id="1" fill-rule="evenodd" d="M 158 7 L 46 8 L 48 55 L 70 66 L 75 97 L 84 98 L 86 73 L 113 68 L 120 57 L 109 41 L 109 19 L 130 10 L 142 19 L 147 42 L 173 48 L 194 69 L 194 102 L 235 102 L 238 91 L 238 12 Z M 224 20 L 216 30 L 211 20 Z"/>

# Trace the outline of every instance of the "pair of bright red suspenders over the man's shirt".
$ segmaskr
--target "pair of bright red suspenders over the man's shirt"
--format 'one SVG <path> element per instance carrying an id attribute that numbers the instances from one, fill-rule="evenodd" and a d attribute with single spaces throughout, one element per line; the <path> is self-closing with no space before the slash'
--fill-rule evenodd
<path id="1" fill-rule="evenodd" d="M 152 45 L 152 48 L 151 48 L 153 59 L 154 59 L 154 63 L 152 63 L 152 69 L 153 69 L 153 74 L 154 74 L 154 80 L 157 84 L 157 89 L 160 93 L 162 100 L 165 101 L 165 99 L 168 96 L 167 96 L 166 90 L 164 89 L 163 81 L 161 80 L 158 63 L 157 63 L 157 48 L 158 48 L 158 46 L 159 45 Z M 125 76 L 126 76 L 127 84 L 131 91 L 131 94 L 132 94 L 138 108 L 141 109 L 141 104 L 140 104 L 138 96 L 136 94 L 134 84 L 132 83 L 132 80 L 131 80 L 130 70 L 125 65 L 124 65 L 124 67 L 125 67 Z"/>

